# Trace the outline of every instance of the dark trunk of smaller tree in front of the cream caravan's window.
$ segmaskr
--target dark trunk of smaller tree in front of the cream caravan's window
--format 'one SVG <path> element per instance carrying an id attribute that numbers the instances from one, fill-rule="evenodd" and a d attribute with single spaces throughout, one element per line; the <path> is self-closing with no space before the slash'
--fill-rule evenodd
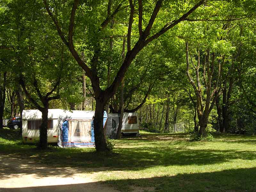
<path id="1" fill-rule="evenodd" d="M 43 108 L 40 110 L 42 113 L 42 124 L 39 128 L 39 144 L 38 148 L 47 148 L 47 127 L 48 127 L 48 108 Z"/>

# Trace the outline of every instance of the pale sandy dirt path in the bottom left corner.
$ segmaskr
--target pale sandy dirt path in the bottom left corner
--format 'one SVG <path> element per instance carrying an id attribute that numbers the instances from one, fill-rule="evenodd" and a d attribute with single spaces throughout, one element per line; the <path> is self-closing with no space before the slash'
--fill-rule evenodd
<path id="1" fill-rule="evenodd" d="M 20 157 L 0 155 L 0 192 L 118 192 L 95 182 L 96 173 L 54 168 Z"/>

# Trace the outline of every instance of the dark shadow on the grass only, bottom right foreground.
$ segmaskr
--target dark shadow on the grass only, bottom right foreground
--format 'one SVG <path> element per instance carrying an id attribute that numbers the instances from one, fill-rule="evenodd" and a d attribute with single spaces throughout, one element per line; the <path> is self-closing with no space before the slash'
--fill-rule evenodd
<path id="1" fill-rule="evenodd" d="M 178 174 L 146 179 L 110 180 L 109 185 L 121 191 L 131 186 L 154 187 L 155 191 L 256 191 L 256 168 L 230 169 L 221 172 Z"/>

